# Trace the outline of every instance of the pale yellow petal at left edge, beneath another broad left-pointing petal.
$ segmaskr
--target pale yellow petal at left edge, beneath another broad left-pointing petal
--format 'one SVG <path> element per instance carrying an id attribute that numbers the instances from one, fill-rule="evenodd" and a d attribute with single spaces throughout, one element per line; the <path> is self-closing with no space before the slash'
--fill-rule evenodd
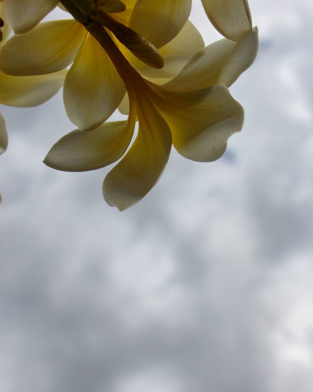
<path id="1" fill-rule="evenodd" d="M 9 106 L 40 105 L 58 93 L 67 70 L 48 75 L 11 76 L 0 71 L 0 103 Z"/>

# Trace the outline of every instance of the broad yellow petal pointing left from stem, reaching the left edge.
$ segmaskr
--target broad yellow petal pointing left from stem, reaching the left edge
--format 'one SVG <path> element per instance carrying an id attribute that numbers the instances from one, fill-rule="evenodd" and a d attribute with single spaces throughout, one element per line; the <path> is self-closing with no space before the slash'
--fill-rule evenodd
<path id="1" fill-rule="evenodd" d="M 1 49 L 0 69 L 9 75 L 41 75 L 73 62 L 87 31 L 76 20 L 44 22 L 15 35 Z"/>

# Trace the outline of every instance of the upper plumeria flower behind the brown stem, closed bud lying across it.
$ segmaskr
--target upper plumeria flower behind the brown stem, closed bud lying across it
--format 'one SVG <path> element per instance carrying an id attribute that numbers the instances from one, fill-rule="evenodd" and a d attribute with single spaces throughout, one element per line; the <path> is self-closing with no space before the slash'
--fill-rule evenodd
<path id="1" fill-rule="evenodd" d="M 18 33 L 31 29 L 57 4 L 52 0 L 4 0 L 4 3 Z M 29 21 L 19 20 L 14 16 L 14 3 L 18 6 L 18 15 L 31 12 L 35 15 Z M 85 3 L 63 0 L 63 4 L 72 8 L 75 4 L 94 4 L 96 11 L 91 17 L 113 32 L 110 36 L 115 44 L 144 76 L 169 80 L 204 47 L 200 33 L 187 21 L 191 0 Z M 85 19 L 90 18 L 84 13 L 81 19 L 75 15 L 84 24 Z M 78 128 L 90 131 L 115 111 L 126 89 L 108 54 L 77 20 L 43 22 L 26 33 L 13 36 L 3 48 L 0 69 L 11 75 L 45 75 L 73 63 L 64 83 L 65 110 Z M 153 73 L 151 65 L 160 73 Z"/>

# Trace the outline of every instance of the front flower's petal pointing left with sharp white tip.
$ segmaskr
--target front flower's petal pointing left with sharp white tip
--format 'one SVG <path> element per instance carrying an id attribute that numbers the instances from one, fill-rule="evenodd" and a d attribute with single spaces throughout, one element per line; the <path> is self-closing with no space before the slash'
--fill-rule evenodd
<path id="1" fill-rule="evenodd" d="M 126 121 L 106 122 L 97 129 L 76 129 L 63 136 L 43 161 L 62 171 L 99 169 L 116 162 L 125 153 L 135 129 L 135 106 Z"/>

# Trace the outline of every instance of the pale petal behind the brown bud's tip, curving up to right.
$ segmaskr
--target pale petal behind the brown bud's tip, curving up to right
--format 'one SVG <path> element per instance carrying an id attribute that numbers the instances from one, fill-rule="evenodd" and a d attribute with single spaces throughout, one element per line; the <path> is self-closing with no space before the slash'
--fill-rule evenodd
<path id="1" fill-rule="evenodd" d="M 149 67 L 135 58 L 125 47 L 120 47 L 120 49 L 141 75 L 147 78 L 158 79 L 176 76 L 191 57 L 203 47 L 204 42 L 201 34 L 190 20 L 187 20 L 180 33 L 171 42 L 159 49 L 164 59 L 164 67 L 162 69 Z"/>

